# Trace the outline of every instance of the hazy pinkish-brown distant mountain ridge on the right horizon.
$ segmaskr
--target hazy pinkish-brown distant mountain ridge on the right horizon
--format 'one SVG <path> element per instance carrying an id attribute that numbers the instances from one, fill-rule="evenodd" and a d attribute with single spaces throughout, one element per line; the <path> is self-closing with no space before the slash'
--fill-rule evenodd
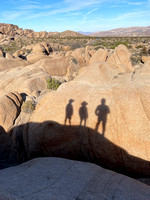
<path id="1" fill-rule="evenodd" d="M 99 31 L 89 34 L 93 37 L 142 37 L 150 36 L 150 26 L 148 27 L 129 27 L 117 28 L 110 31 Z"/>

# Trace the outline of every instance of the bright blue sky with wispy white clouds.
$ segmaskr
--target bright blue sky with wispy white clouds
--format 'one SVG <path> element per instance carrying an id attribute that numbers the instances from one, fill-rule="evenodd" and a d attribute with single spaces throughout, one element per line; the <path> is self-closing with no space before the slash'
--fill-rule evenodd
<path id="1" fill-rule="evenodd" d="M 150 26 L 150 0 L 7 0 L 0 23 L 59 32 Z"/>

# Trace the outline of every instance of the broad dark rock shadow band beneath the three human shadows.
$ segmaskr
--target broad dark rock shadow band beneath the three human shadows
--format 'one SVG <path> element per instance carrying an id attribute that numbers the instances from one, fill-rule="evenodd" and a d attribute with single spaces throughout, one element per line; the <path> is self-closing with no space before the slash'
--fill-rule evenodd
<path id="1" fill-rule="evenodd" d="M 89 127 L 45 121 L 2 131 L 6 139 L 5 148 L 0 144 L 0 160 L 5 161 L 0 162 L 1 169 L 47 156 L 91 162 L 132 177 L 150 176 L 149 161 L 130 155 Z"/>

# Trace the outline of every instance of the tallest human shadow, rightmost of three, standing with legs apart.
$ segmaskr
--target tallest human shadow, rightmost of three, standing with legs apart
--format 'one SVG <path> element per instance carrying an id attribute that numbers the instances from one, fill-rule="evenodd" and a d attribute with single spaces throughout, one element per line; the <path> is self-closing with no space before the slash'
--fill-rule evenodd
<path id="1" fill-rule="evenodd" d="M 95 130 L 98 131 L 99 125 L 102 122 L 102 135 L 104 136 L 106 130 L 107 114 L 110 113 L 110 109 L 105 105 L 106 100 L 101 99 L 101 104 L 97 106 L 95 110 L 95 115 L 98 116 Z"/>

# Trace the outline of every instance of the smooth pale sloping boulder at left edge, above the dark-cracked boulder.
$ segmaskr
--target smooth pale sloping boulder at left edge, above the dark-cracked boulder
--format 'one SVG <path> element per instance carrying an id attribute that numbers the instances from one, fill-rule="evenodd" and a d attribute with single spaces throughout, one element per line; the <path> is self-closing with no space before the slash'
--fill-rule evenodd
<path id="1" fill-rule="evenodd" d="M 0 94 L 16 90 L 35 97 L 47 88 L 46 80 L 49 78 L 46 72 L 34 65 L 16 67 L 7 73 L 2 71 L 0 77 Z"/>

